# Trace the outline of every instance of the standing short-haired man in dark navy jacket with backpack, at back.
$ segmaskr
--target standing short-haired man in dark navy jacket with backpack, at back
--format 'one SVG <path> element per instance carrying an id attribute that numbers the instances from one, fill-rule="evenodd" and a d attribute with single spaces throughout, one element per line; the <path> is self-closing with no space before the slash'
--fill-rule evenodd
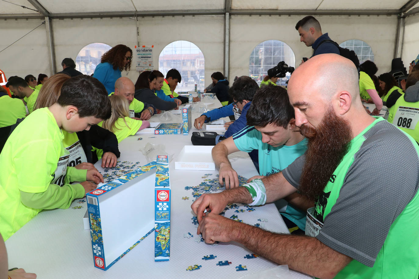
<path id="1" fill-rule="evenodd" d="M 323 53 L 340 54 L 339 48 L 333 42 L 323 42 L 331 39 L 327 33 L 321 33 L 320 23 L 312 15 L 308 15 L 298 21 L 297 25 L 295 25 L 295 30 L 300 34 L 300 42 L 304 42 L 306 46 L 313 48 L 314 51 L 311 57 Z M 301 64 L 303 63 L 304 61 L 301 60 Z"/>

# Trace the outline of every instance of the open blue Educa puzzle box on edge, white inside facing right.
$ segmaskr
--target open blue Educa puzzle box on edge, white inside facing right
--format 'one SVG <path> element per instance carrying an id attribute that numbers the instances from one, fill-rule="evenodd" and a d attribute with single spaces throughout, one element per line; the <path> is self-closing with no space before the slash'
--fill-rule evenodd
<path id="1" fill-rule="evenodd" d="M 86 194 L 98 269 L 109 269 L 153 232 L 155 168 L 153 161 Z"/>

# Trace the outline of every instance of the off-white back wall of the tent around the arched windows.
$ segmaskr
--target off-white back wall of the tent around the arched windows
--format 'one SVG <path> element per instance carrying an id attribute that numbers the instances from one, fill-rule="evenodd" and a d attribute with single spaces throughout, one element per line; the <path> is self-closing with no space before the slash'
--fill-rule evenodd
<path id="1" fill-rule="evenodd" d="M 295 54 L 296 66 L 302 57 L 310 57 L 311 48 L 300 42 L 295 24 L 304 15 L 232 15 L 230 19 L 230 79 L 234 76 L 247 75 L 249 56 L 255 46 L 265 40 L 277 39 L 288 44 Z M 390 70 L 393 58 L 394 38 L 396 36 L 396 15 L 318 15 L 323 32 L 341 43 L 348 39 L 360 39 L 369 44 L 375 55 L 379 72 Z M 406 18 L 411 36 L 405 35 L 405 46 L 417 41 L 414 28 L 417 18 Z M 209 83 L 212 72 L 223 72 L 224 64 L 224 15 L 186 15 L 139 17 L 134 18 L 73 18 L 52 20 L 57 71 L 61 70 L 61 60 L 65 57 L 75 59 L 78 52 L 86 45 L 103 42 L 114 46 L 126 44 L 154 45 L 154 65 L 158 67 L 160 51 L 176 40 L 187 40 L 196 44 L 205 58 L 205 80 Z M 0 30 L 2 49 L 25 33 L 39 25 L 43 20 L 19 19 L 6 20 Z M 415 25 L 416 24 L 416 25 Z M 137 26 L 139 36 L 137 37 Z M 410 40 L 410 41 L 409 41 Z M 412 48 L 413 49 L 413 48 Z M 45 25 L 25 36 L 16 44 L 0 53 L 0 69 L 6 75 L 39 73 L 52 74 L 49 69 L 47 38 Z M 412 50 L 414 52 L 414 50 Z M 403 51 L 403 56 L 414 56 Z M 411 61 L 411 58 L 409 58 Z M 287 61 L 286 61 L 287 62 Z M 134 82 L 138 76 L 135 70 L 128 77 Z"/>

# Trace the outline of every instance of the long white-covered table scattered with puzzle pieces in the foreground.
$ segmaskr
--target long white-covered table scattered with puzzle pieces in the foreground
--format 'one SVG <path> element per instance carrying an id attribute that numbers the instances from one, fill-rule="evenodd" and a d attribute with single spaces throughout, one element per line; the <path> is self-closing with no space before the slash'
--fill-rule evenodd
<path id="1" fill-rule="evenodd" d="M 159 116 L 153 116 L 158 120 Z M 180 117 L 180 116 L 178 116 Z M 196 131 L 194 128 L 192 131 Z M 277 264 L 263 259 L 244 259 L 252 252 L 239 243 L 219 243 L 211 246 L 197 243 L 193 238 L 184 238 L 184 233 L 196 235 L 196 228 L 191 223 L 194 216 L 190 205 L 194 198 L 191 190 L 185 186 L 196 186 L 202 182 L 204 174 L 212 173 L 208 178 L 214 178 L 218 171 L 185 171 L 175 170 L 174 161 L 184 145 L 191 145 L 190 136 L 184 135 L 154 135 L 143 134 L 130 136 L 119 145 L 120 161 L 140 161 L 147 164 L 147 159 L 139 151 L 145 143 L 165 143 L 166 153 L 173 154 L 170 166 L 172 187 L 171 208 L 171 257 L 170 261 L 154 261 L 154 233 L 145 238 L 132 251 L 116 262 L 107 271 L 97 269 L 93 265 L 91 236 L 89 230 L 83 230 L 83 215 L 87 204 L 75 200 L 66 210 L 44 210 L 24 225 L 18 232 L 6 241 L 9 268 L 21 267 L 28 272 L 34 272 L 38 278 L 150 278 L 152 276 L 165 278 L 239 278 L 251 273 L 272 269 Z M 139 137 L 143 139 L 137 140 Z M 154 138 L 155 137 L 155 138 Z M 249 178 L 257 175 L 248 155 L 237 153 L 231 156 L 233 168 L 239 175 Z M 99 171 L 103 171 L 96 164 Z M 182 200 L 187 196 L 189 200 Z M 76 207 L 73 209 L 72 207 Z M 77 209 L 77 207 L 81 207 Z M 241 206 L 240 209 L 246 209 Z M 277 233 L 288 233 L 282 218 L 274 204 L 256 207 L 253 212 L 225 212 L 225 217 L 238 215 L 244 223 L 254 225 L 260 223 L 259 218 L 266 218 L 265 229 Z M 273 243 L 274 245 L 274 243 Z M 216 259 L 202 260 L 202 257 L 213 254 Z M 218 261 L 230 261 L 230 266 L 217 266 Z M 201 269 L 186 271 L 188 266 L 202 265 Z M 247 271 L 237 272 L 235 266 L 247 266 Z M 305 274 L 292 271 L 294 278 L 312 278 Z"/>

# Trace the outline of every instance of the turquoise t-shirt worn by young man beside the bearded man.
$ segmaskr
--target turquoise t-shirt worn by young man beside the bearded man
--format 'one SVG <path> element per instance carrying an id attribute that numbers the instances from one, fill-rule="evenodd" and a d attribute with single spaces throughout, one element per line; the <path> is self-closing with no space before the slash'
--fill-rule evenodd
<path id="1" fill-rule="evenodd" d="M 253 126 L 246 126 L 240 132 L 235 133 L 233 141 L 241 151 L 250 152 L 254 149 L 259 151 L 259 174 L 265 176 L 282 171 L 307 150 L 307 139 L 292 146 L 273 147 L 263 143 L 261 132 Z M 305 211 L 285 204 L 285 201 L 283 208 L 285 210 L 280 213 L 305 231 Z"/>

